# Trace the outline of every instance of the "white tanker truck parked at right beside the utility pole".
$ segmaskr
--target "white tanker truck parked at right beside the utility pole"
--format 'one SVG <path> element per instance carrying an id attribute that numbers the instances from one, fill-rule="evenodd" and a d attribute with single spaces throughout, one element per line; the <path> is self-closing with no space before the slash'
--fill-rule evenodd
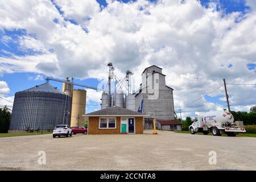
<path id="1" fill-rule="evenodd" d="M 236 137 L 237 133 L 245 133 L 242 121 L 235 121 L 233 115 L 228 110 L 215 111 L 196 115 L 195 122 L 189 126 L 191 134 L 202 132 L 208 135 L 212 132 L 214 136 L 227 134 L 229 137 Z"/>

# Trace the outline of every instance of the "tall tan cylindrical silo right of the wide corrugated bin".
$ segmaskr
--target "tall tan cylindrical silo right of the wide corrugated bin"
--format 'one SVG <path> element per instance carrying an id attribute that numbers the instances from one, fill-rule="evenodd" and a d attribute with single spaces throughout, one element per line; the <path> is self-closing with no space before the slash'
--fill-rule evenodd
<path id="1" fill-rule="evenodd" d="M 73 90 L 71 124 L 70 126 L 84 126 L 86 105 L 86 90 Z"/>

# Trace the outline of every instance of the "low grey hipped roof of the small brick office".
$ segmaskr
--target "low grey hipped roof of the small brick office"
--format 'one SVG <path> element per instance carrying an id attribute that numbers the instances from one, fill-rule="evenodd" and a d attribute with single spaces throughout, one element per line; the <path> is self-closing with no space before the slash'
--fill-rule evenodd
<path id="1" fill-rule="evenodd" d="M 122 107 L 114 106 L 114 107 L 107 107 L 105 109 L 97 110 L 92 113 L 85 114 L 84 116 L 149 116 L 142 113 L 138 113 L 136 111 L 125 109 Z"/>

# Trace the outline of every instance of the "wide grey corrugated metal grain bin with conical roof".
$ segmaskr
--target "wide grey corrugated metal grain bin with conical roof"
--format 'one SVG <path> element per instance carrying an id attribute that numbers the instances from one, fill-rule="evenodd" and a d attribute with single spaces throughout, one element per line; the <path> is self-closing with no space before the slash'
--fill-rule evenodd
<path id="1" fill-rule="evenodd" d="M 46 83 L 15 93 L 9 132 L 52 130 L 69 124 L 71 97 Z"/>

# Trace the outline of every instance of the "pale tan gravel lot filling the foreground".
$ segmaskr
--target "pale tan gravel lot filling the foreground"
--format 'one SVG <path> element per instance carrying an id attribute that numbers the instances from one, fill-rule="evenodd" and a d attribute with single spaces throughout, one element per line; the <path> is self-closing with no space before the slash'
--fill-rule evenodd
<path id="1" fill-rule="evenodd" d="M 46 152 L 46 165 L 38 152 Z M 217 164 L 210 165 L 209 151 Z M 0 170 L 256 170 L 256 138 L 144 131 L 143 135 L 0 138 Z"/>

